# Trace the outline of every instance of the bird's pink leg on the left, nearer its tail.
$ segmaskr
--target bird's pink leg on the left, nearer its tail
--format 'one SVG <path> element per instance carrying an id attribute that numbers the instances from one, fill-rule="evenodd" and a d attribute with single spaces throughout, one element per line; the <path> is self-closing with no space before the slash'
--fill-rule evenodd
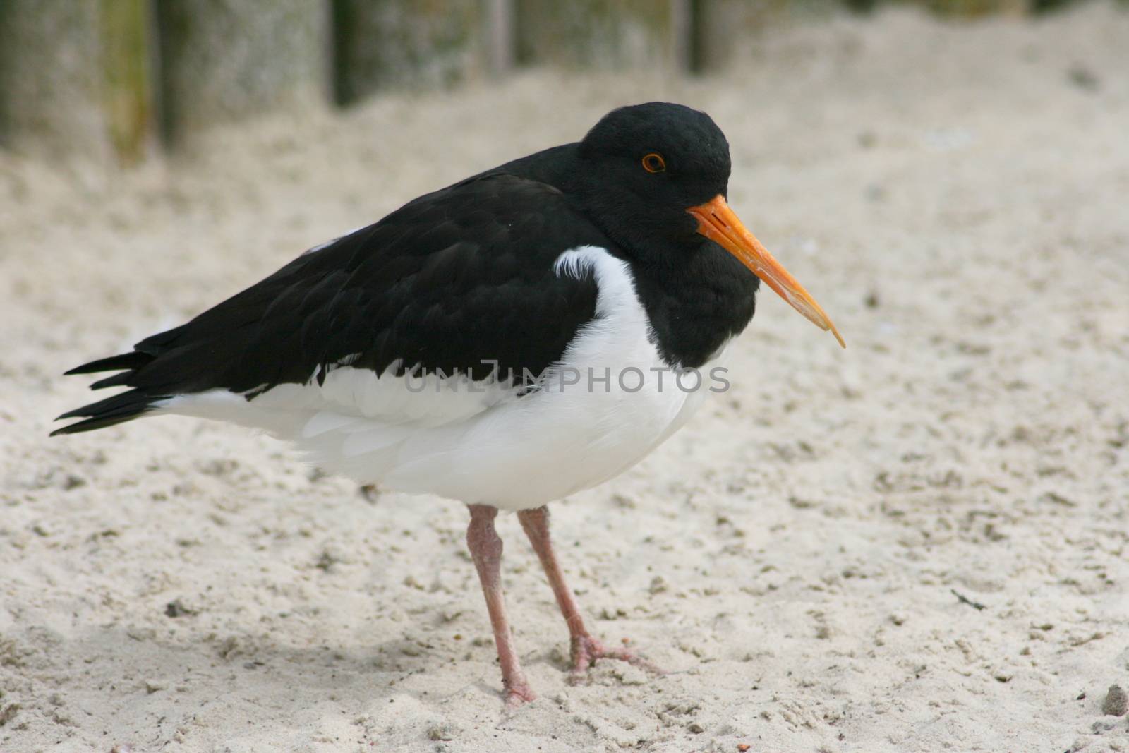
<path id="1" fill-rule="evenodd" d="M 498 509 L 489 505 L 467 505 L 471 524 L 466 527 L 466 545 L 479 571 L 482 594 L 487 597 L 490 627 L 495 631 L 498 646 L 498 662 L 501 664 L 501 684 L 506 692 L 507 706 L 520 706 L 536 698 L 530 688 L 522 663 L 514 649 L 514 634 L 506 618 L 506 601 L 501 593 L 501 539 L 495 531 L 493 520 Z"/>

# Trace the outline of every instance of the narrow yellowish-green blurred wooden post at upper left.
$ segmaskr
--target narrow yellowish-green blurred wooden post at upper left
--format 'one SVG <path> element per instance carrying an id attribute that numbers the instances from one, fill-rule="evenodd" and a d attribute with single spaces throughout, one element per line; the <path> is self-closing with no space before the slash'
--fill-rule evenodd
<path id="1" fill-rule="evenodd" d="M 141 160 L 154 129 L 149 0 L 102 0 L 106 125 L 122 164 Z"/>

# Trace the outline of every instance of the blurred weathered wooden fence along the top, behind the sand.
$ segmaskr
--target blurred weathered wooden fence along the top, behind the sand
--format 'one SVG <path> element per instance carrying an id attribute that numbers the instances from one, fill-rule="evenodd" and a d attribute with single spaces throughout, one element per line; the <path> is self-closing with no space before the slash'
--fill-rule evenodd
<path id="1" fill-rule="evenodd" d="M 911 0 L 1015 24 L 1071 0 Z M 1122 0 L 1122 7 L 1129 3 Z M 263 112 L 570 71 L 726 70 L 787 26 L 881 0 L 5 0 L 0 147 L 121 165 Z M 1093 84 L 1077 71 L 1080 86 Z"/>

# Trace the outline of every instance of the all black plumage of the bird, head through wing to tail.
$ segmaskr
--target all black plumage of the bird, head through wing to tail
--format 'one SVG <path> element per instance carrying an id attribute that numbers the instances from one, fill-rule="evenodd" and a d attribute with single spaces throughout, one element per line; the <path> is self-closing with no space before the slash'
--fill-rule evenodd
<path id="1" fill-rule="evenodd" d="M 378 375 L 397 364 L 475 380 L 497 365 L 527 388 L 595 315 L 590 275 L 553 270 L 586 245 L 631 263 L 664 359 L 702 365 L 752 318 L 759 283 L 683 211 L 724 195 L 728 143 L 679 105 L 616 112 L 584 141 L 423 195 L 130 353 L 71 369 L 124 369 L 91 388 L 131 389 L 63 413 L 86 420 L 53 434 L 120 423 L 175 395 L 221 388 L 253 400 L 324 379 L 347 358 Z M 640 170 L 640 148 L 662 149 L 668 173 Z"/>

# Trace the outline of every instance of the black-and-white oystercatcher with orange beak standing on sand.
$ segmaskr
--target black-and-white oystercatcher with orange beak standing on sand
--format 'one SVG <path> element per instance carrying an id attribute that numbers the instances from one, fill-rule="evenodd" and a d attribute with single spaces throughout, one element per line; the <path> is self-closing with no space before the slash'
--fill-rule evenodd
<path id="1" fill-rule="evenodd" d="M 846 347 L 729 208 L 730 170 L 706 113 L 619 107 L 579 141 L 419 196 L 70 369 L 114 371 L 91 389 L 126 389 L 63 413 L 81 420 L 52 436 L 215 419 L 360 484 L 464 502 L 508 707 L 536 698 L 500 580 L 495 522 L 516 511 L 567 623 L 571 677 L 599 659 L 651 667 L 588 631 L 548 505 L 637 464 L 719 389 L 709 375 L 761 282 Z"/>

